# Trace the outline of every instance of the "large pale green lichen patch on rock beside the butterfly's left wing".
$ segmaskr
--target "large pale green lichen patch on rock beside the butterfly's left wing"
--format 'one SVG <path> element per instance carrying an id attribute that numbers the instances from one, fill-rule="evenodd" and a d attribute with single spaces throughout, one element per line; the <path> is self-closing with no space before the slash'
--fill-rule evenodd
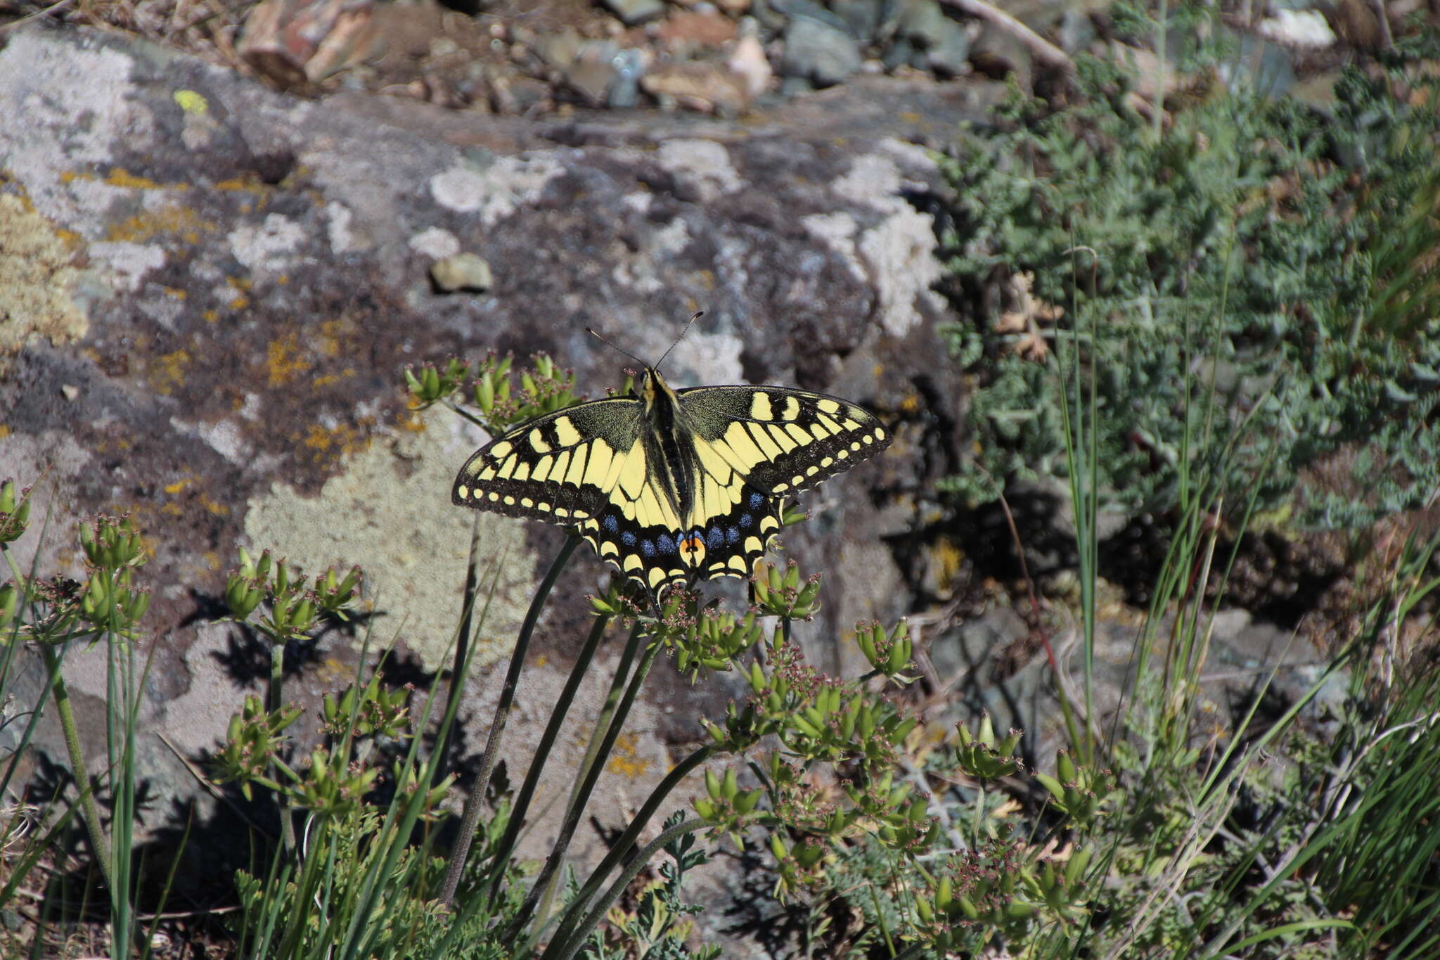
<path id="1" fill-rule="evenodd" d="M 446 665 L 459 622 L 474 514 L 452 507 L 449 492 L 472 439 L 454 436 L 438 415 L 425 426 L 389 442 L 377 438 L 347 458 L 318 497 L 275 484 L 269 495 L 249 502 L 245 533 L 255 548 L 272 550 L 307 573 L 360 564 L 367 600 L 382 613 L 372 646 L 399 635 L 435 671 Z M 508 652 L 534 589 L 524 524 L 490 514 L 480 522 L 482 564 L 503 563 L 477 668 Z"/>

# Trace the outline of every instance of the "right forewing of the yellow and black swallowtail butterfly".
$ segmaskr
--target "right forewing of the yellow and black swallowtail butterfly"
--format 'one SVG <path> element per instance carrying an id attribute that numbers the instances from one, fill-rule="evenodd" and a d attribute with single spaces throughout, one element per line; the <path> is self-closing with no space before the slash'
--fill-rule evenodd
<path id="1" fill-rule="evenodd" d="M 701 450 L 772 497 L 814 486 L 890 446 L 873 413 L 824 393 L 737 386 L 678 396 Z"/>

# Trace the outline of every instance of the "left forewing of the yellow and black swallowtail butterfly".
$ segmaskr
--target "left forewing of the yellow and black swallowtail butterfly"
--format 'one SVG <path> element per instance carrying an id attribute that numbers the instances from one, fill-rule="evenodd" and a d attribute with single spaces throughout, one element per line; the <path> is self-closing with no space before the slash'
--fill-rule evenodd
<path id="1" fill-rule="evenodd" d="M 592 400 L 528 420 L 461 468 L 452 501 L 507 517 L 573 524 L 599 512 L 613 488 L 645 479 L 635 399 Z"/>

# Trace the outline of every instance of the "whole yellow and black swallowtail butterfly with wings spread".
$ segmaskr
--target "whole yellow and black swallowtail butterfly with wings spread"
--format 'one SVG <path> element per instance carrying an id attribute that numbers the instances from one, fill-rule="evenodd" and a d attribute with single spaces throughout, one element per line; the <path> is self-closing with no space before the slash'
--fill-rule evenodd
<path id="1" fill-rule="evenodd" d="M 514 427 L 455 478 L 458 505 L 573 527 L 658 594 L 747 577 L 782 498 L 890 445 L 858 406 L 788 387 L 674 390 L 645 368 L 634 396 Z"/>

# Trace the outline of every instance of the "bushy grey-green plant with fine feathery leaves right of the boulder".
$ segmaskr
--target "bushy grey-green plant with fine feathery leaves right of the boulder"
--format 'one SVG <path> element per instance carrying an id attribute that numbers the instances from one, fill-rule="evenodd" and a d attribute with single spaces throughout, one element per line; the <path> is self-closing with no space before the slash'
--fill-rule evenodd
<path id="1" fill-rule="evenodd" d="M 1212 71 L 1215 56 L 1182 66 Z M 1066 476 L 1064 387 L 1043 361 L 1070 345 L 1093 371 L 1103 505 L 1172 511 L 1185 468 L 1259 485 L 1261 510 L 1306 525 L 1417 507 L 1440 484 L 1434 81 L 1404 59 L 1351 69 L 1322 117 L 1211 79 L 1175 98 L 1168 124 L 1132 108 L 1122 66 L 1080 58 L 1077 86 L 1060 112 L 1017 96 L 942 163 L 965 318 L 949 338 L 976 449 L 945 486 L 976 504 L 1017 478 Z M 994 320 L 981 305 L 996 286 Z M 1096 318 L 1083 335 L 1081 315 Z M 1197 384 L 1212 384 L 1214 407 L 1187 403 Z M 1224 469 L 1181 463 L 1182 436 L 1207 423 L 1218 442 L 1188 455 L 1224 450 Z M 1296 488 L 1341 452 L 1348 488 Z"/>

